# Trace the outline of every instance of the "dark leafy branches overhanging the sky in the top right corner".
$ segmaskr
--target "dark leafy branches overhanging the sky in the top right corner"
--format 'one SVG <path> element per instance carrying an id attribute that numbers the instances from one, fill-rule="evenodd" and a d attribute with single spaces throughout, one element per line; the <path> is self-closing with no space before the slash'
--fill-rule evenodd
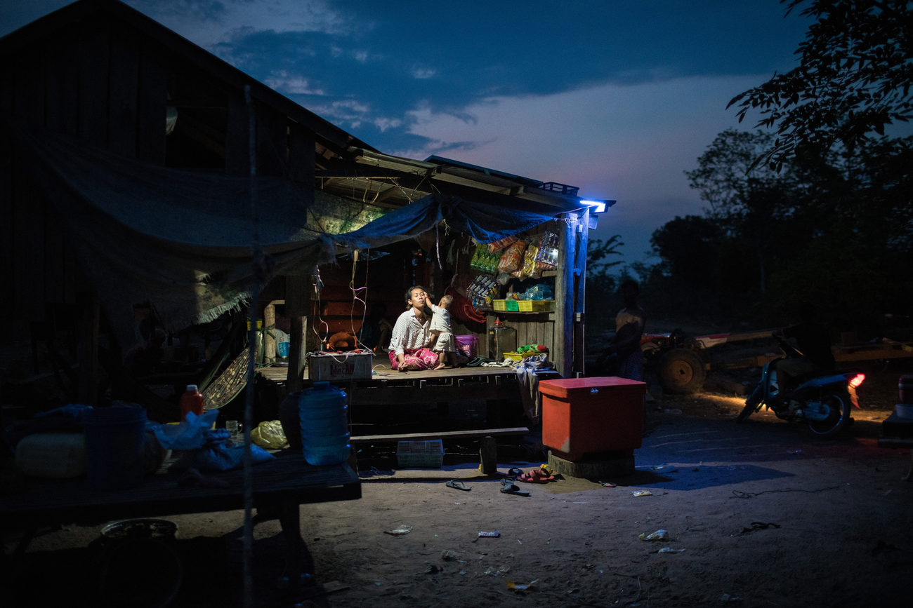
<path id="1" fill-rule="evenodd" d="M 786 15 L 809 0 L 781 0 Z M 756 162 L 781 170 L 803 148 L 853 149 L 871 133 L 913 118 L 913 3 L 908 0 L 811 0 L 816 19 L 797 54 L 798 67 L 732 98 L 741 122 L 758 109 L 756 127 L 777 138 Z"/>

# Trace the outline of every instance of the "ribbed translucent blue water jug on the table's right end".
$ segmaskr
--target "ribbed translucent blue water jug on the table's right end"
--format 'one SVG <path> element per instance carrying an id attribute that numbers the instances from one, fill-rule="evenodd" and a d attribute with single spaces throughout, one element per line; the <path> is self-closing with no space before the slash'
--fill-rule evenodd
<path id="1" fill-rule="evenodd" d="M 347 410 L 345 392 L 329 382 L 315 382 L 301 391 L 301 443 L 308 464 L 335 465 L 349 459 Z"/>

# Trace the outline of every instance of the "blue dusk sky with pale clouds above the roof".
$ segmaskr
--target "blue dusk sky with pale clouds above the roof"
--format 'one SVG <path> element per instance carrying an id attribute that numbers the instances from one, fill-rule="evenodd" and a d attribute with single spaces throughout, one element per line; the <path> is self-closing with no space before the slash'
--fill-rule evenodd
<path id="1" fill-rule="evenodd" d="M 0 35 L 66 0 L 0 3 Z M 729 99 L 796 65 L 777 0 L 127 0 L 388 154 L 432 154 L 614 199 L 624 263 L 704 204 L 684 171 Z"/>

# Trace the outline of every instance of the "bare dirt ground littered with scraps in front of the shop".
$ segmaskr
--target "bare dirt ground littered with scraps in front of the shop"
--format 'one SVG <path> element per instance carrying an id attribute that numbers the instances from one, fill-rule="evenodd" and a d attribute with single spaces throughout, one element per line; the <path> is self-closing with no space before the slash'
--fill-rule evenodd
<path id="1" fill-rule="evenodd" d="M 441 469 L 395 469 L 391 454 L 363 452 L 361 500 L 301 508 L 310 592 L 276 589 L 278 522 L 257 524 L 255 605 L 906 607 L 910 454 L 877 447 L 897 378 L 913 372 L 902 363 L 867 366 L 864 409 L 834 440 L 768 414 L 737 425 L 743 397 L 651 397 L 634 474 L 518 484 L 529 497 L 482 476 L 471 444 L 445 444 Z M 535 435 L 499 440 L 498 457 L 502 474 L 545 458 Z M 174 605 L 241 605 L 243 512 L 169 519 L 184 563 Z M 640 538 L 660 530 L 665 540 Z M 99 531 L 43 531 L 4 605 L 97 597 Z M 158 567 L 136 560 L 137 570 Z M 137 584 L 154 581 L 137 574 Z"/>

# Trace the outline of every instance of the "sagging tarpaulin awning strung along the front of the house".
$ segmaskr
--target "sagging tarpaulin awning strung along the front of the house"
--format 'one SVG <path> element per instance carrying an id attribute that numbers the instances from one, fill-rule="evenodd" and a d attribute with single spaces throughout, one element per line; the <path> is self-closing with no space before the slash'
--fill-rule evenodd
<path id="1" fill-rule="evenodd" d="M 171 169 L 8 129 L 122 344 L 136 339 L 133 304 L 149 302 L 177 331 L 247 304 L 253 281 L 311 273 L 340 249 L 375 249 L 437 226 L 491 242 L 554 219 L 442 194 L 384 213 L 290 180 Z M 255 263 L 257 243 L 265 257 Z"/>

